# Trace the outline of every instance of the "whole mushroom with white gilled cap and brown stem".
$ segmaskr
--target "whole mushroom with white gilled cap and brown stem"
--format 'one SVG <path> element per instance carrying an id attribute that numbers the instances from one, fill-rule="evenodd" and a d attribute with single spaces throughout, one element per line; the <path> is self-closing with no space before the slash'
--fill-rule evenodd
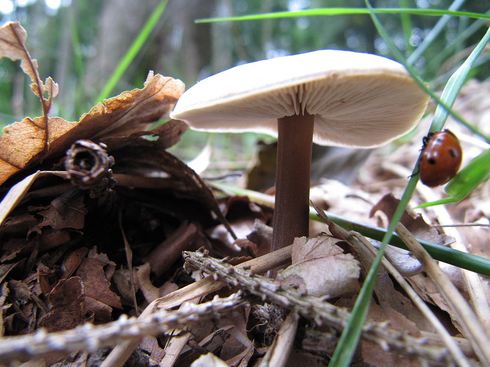
<path id="1" fill-rule="evenodd" d="M 395 61 L 319 50 L 212 75 L 184 92 L 170 116 L 195 130 L 277 136 L 274 251 L 308 236 L 312 141 L 380 146 L 410 131 L 428 100 Z"/>

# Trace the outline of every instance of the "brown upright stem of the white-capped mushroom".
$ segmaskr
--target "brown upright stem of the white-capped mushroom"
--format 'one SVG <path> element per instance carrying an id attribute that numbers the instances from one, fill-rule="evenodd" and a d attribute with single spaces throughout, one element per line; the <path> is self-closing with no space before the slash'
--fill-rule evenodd
<path id="1" fill-rule="evenodd" d="M 277 167 L 271 251 L 308 236 L 310 167 L 315 116 L 277 119 Z"/>

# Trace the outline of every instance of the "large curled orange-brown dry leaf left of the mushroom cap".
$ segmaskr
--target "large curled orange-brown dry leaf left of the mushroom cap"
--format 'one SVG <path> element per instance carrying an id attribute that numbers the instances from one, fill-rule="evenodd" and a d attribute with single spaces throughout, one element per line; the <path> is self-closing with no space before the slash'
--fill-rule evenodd
<path id="1" fill-rule="evenodd" d="M 47 80 L 50 91 L 53 87 Z M 172 105 L 184 92 L 177 79 L 149 72 L 145 87 L 104 100 L 83 115 L 78 122 L 49 117 L 49 152 L 46 147 L 44 117 L 26 117 L 4 128 L 0 141 L 0 184 L 12 174 L 39 161 L 64 153 L 78 139 L 125 136 L 146 129 L 160 118 L 168 117 Z"/>

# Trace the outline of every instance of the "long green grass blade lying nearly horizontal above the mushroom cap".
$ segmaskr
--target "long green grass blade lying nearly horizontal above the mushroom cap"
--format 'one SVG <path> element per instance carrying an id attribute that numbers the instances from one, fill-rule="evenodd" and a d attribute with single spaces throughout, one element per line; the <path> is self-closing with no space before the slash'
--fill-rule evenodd
<path id="1" fill-rule="evenodd" d="M 416 8 L 375 8 L 373 12 L 376 14 L 413 14 L 425 15 L 432 17 L 441 17 L 449 15 L 453 17 L 468 17 L 476 19 L 490 19 L 489 14 L 472 13 L 466 11 L 454 11 L 445 9 L 416 9 Z M 370 14 L 366 8 L 319 8 L 307 9 L 299 11 L 281 11 L 264 14 L 251 14 L 241 17 L 226 17 L 226 18 L 208 18 L 197 19 L 196 23 L 211 23 L 211 22 L 228 22 L 228 21 L 251 21 L 272 18 L 294 18 L 308 16 L 333 16 L 333 15 L 349 15 L 349 14 Z"/>

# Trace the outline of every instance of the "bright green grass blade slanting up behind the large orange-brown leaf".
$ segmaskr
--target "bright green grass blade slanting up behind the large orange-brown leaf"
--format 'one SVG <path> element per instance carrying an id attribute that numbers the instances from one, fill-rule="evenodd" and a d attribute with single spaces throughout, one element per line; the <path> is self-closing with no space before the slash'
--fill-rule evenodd
<path id="1" fill-rule="evenodd" d="M 147 23 L 143 26 L 143 29 L 138 34 L 138 37 L 136 37 L 133 44 L 129 47 L 126 54 L 124 55 L 123 59 L 112 73 L 104 89 L 102 90 L 102 92 L 100 92 L 95 104 L 97 104 L 98 102 L 102 102 L 105 98 L 110 97 L 110 93 L 118 83 L 119 79 L 121 79 L 121 76 L 123 76 L 129 64 L 131 64 L 131 61 L 133 61 L 135 56 L 140 51 L 141 47 L 145 44 L 148 36 L 150 35 L 151 31 L 153 30 L 163 11 L 165 10 L 167 2 L 168 0 L 162 0 L 155 8 L 150 18 L 147 20 Z"/>

